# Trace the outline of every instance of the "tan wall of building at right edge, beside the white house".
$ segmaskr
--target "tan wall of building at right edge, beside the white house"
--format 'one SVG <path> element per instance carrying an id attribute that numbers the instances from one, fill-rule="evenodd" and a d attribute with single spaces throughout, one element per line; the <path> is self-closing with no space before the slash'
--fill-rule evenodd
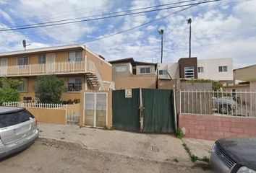
<path id="1" fill-rule="evenodd" d="M 234 70 L 234 79 L 249 81 L 250 79 L 256 79 L 256 66 L 250 66 L 247 68 L 241 68 Z"/>

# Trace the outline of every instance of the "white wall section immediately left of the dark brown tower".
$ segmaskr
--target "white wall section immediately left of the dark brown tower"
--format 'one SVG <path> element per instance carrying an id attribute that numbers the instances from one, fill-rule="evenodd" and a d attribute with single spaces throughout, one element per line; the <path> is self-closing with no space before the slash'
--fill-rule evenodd
<path id="1" fill-rule="evenodd" d="M 179 79 L 179 63 L 158 63 L 158 71 L 167 70 L 172 79 Z M 158 72 L 159 73 L 159 72 Z M 159 79 L 170 79 L 168 74 L 159 75 Z"/>

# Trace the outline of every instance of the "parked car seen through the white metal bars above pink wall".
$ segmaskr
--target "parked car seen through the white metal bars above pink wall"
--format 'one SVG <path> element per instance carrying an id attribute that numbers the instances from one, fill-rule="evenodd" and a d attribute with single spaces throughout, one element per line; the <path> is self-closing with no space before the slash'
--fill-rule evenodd
<path id="1" fill-rule="evenodd" d="M 237 102 L 234 101 L 233 97 L 213 97 L 213 108 L 221 114 L 231 114 L 232 111 L 236 110 Z"/>

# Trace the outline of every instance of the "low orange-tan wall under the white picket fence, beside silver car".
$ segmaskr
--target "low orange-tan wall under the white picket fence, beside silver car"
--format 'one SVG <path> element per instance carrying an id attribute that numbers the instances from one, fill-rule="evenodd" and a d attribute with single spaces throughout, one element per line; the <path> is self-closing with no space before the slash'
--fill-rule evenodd
<path id="1" fill-rule="evenodd" d="M 66 125 L 66 110 L 54 110 L 54 109 L 43 109 L 43 108 L 26 108 L 31 112 L 38 123 L 54 123 Z"/>

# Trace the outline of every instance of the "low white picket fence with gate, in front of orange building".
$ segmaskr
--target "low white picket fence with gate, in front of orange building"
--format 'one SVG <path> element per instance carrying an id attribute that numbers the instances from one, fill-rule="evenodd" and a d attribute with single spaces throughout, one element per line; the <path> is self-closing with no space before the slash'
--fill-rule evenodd
<path id="1" fill-rule="evenodd" d="M 3 105 L 11 107 L 31 107 L 38 109 L 66 110 L 67 122 L 79 123 L 80 120 L 80 103 L 72 105 L 63 105 L 35 102 L 3 102 Z"/>

